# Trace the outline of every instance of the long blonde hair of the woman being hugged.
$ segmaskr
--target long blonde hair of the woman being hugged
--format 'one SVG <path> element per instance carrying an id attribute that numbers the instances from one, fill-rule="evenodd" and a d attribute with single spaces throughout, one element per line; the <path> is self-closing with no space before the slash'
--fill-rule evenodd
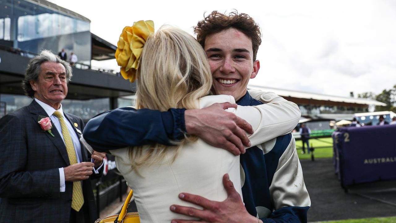
<path id="1" fill-rule="evenodd" d="M 163 25 L 147 39 L 137 74 L 138 109 L 195 109 L 198 100 L 208 95 L 212 86 L 212 75 L 202 46 L 192 35 L 169 25 Z M 183 144 L 195 140 L 195 136 L 185 136 L 177 146 L 154 144 L 150 148 L 129 148 L 132 169 L 162 160 L 169 149 L 174 151 L 174 161 Z M 143 149 L 148 150 L 143 154 Z"/>

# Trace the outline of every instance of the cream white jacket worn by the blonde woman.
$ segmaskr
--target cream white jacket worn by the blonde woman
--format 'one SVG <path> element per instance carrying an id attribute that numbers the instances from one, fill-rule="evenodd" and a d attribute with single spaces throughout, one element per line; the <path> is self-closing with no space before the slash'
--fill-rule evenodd
<path id="1" fill-rule="evenodd" d="M 260 144 L 276 136 L 289 133 L 297 125 L 301 113 L 298 106 L 293 102 L 288 102 L 272 92 L 249 90 L 249 94 L 265 104 L 259 106 L 238 106 L 236 109 L 232 108 L 228 109 L 228 111 L 234 112 L 252 125 L 253 130 L 255 130 L 252 135 L 249 135 L 252 146 L 259 145 L 259 148 L 265 148 L 265 144 L 262 146 Z M 200 99 L 199 107 L 205 108 L 213 103 L 222 102 L 235 103 L 235 100 L 229 95 L 206 96 Z M 293 145 L 294 147 L 290 151 L 295 150 L 295 144 Z M 179 215 L 169 210 L 171 204 L 194 206 L 181 201 L 178 198 L 180 192 L 198 194 L 210 200 L 225 200 L 227 193 L 222 184 L 222 177 L 225 173 L 230 175 L 236 190 L 242 194 L 241 182 L 243 183 L 244 179 L 243 172 L 240 171 L 239 156 L 234 156 L 227 150 L 210 146 L 201 139 L 185 144 L 177 154 L 174 162 L 172 162 L 174 150 L 167 150 L 164 160 L 150 166 L 139 167 L 139 174 L 131 171 L 128 164 L 128 148 L 110 150 L 110 152 L 116 156 L 118 170 L 124 175 L 128 185 L 134 190 L 135 202 L 142 223 L 170 222 L 174 218 L 191 219 L 188 216 Z M 288 155 L 286 154 L 286 156 Z M 288 173 L 284 173 L 284 169 L 288 171 L 296 168 L 296 165 L 294 165 L 296 164 L 295 157 L 290 157 L 290 159 L 287 159 L 290 160 L 289 162 L 280 162 L 279 173 L 286 174 L 284 177 L 293 177 L 289 176 Z M 289 167 L 289 165 L 293 166 Z M 299 173 L 300 171 L 301 166 L 297 172 Z M 303 183 L 302 174 L 299 180 L 302 180 Z M 282 187 L 282 185 L 280 186 Z M 276 185 L 274 185 L 273 191 L 278 193 Z M 288 196 L 288 189 L 285 191 L 286 193 L 281 193 L 280 197 Z M 289 205 L 282 201 L 274 202 L 276 204 L 279 203 L 279 206 Z M 298 205 L 293 204 L 291 206 Z"/>

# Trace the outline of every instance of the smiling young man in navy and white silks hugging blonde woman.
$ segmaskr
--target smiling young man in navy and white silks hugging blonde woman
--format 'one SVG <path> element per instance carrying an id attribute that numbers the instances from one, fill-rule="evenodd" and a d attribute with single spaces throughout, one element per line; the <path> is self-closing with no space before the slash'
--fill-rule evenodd
<path id="1" fill-rule="evenodd" d="M 267 106 L 262 118 L 268 120 L 268 126 L 288 123 L 291 129 L 295 127 L 300 112 L 296 112 L 294 103 L 283 98 L 279 100 L 280 97 L 271 92 L 258 94 L 247 91 L 249 79 L 254 78 L 260 69 L 256 55 L 261 44 L 259 26 L 249 15 L 237 12 L 224 15 L 214 11 L 200 21 L 194 31 L 208 56 L 214 94 L 232 95 L 241 106 Z M 285 102 L 291 106 L 282 107 Z M 277 107 L 279 105 L 282 108 Z M 187 132 L 234 154 L 244 153 L 240 156 L 243 202 L 225 175 L 226 200 L 211 201 L 183 192 L 179 194 L 180 199 L 201 206 L 203 210 L 178 205 L 172 205 L 170 210 L 201 220 L 174 219 L 174 223 L 307 222 L 310 198 L 304 185 L 295 140 L 289 133 L 291 129 L 257 130 L 266 131 L 270 135 L 268 141 L 245 151 L 242 144 L 250 145 L 241 131 L 249 132 L 248 124 L 242 125 L 244 122 L 235 117 L 230 121 L 229 114 L 223 111 L 230 105 L 215 106 L 207 110 L 171 109 L 162 113 L 145 110 L 146 116 L 141 114 L 143 111 L 139 114 L 139 110 L 114 110 L 89 121 L 84 137 L 94 148 L 103 150 L 103 147 L 121 148 L 152 142 L 169 144 L 169 140 L 180 139 L 182 133 Z M 288 117 L 280 115 L 281 110 L 287 110 Z M 150 122 L 137 124 L 142 119 Z M 225 124 L 225 121 L 233 124 Z M 274 125 L 269 124 L 271 122 Z M 156 128 L 151 128 L 151 125 Z M 283 135 L 285 133 L 289 134 Z"/>

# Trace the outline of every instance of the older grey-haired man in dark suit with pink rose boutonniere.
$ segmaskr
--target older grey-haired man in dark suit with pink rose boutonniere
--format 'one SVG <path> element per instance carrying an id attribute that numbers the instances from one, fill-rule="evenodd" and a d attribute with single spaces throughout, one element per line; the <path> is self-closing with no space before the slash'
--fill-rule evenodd
<path id="1" fill-rule="evenodd" d="M 100 176 L 105 154 L 95 152 L 88 161 L 79 141 L 82 119 L 63 112 L 71 71 L 43 51 L 30 60 L 23 80 L 32 103 L 0 119 L 0 222 L 88 223 L 98 217 L 89 176 Z"/>

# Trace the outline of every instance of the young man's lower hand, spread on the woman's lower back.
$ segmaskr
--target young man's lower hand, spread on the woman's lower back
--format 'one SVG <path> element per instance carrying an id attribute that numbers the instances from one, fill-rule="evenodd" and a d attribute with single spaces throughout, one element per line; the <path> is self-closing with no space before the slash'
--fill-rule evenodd
<path id="1" fill-rule="evenodd" d="M 196 204 L 204 208 L 204 210 L 179 206 L 173 204 L 170 210 L 175 213 L 198 217 L 201 220 L 181 220 L 173 219 L 171 223 L 262 223 L 256 217 L 250 215 L 238 192 L 234 188 L 234 184 L 230 181 L 228 174 L 223 176 L 223 185 L 227 190 L 227 199 L 223 202 L 211 201 L 198 195 L 181 193 L 179 198 L 181 200 Z"/>

